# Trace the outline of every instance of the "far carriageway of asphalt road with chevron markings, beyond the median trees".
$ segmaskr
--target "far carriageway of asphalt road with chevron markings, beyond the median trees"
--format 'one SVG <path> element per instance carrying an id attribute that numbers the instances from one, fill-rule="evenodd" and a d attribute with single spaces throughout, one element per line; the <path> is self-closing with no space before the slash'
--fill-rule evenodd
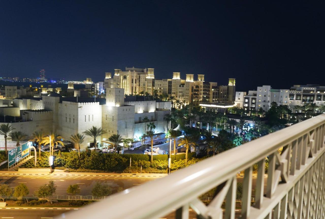
<path id="1" fill-rule="evenodd" d="M 76 173 L 78 174 L 78 173 Z M 108 185 L 112 191 L 119 187 L 127 189 L 142 183 L 160 178 L 161 176 L 105 176 L 97 173 L 96 175 L 52 175 L 52 174 L 0 174 L 0 183 L 6 183 L 14 188 L 19 183 L 24 183 L 29 189 L 29 193 L 35 191 L 45 183 L 53 180 L 57 186 L 57 195 L 66 195 L 69 185 L 78 184 L 80 187 L 79 195 L 91 195 L 91 190 L 96 182 Z"/>

